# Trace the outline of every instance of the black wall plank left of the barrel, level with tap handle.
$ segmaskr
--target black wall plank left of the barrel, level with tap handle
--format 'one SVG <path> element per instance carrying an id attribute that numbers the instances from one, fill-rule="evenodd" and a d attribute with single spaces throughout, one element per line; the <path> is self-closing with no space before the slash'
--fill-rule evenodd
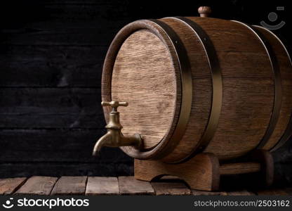
<path id="1" fill-rule="evenodd" d="M 105 126 L 100 89 L 0 89 L 1 128 Z"/>

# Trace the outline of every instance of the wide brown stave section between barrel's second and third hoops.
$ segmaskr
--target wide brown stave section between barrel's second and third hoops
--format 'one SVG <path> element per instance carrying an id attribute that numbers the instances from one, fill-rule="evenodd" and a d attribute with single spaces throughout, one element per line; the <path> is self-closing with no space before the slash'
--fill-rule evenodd
<path id="1" fill-rule="evenodd" d="M 248 28 L 215 18 L 191 18 L 211 38 L 223 76 L 223 106 L 206 152 L 220 159 L 244 155 L 263 138 L 274 103 L 265 46 Z"/>

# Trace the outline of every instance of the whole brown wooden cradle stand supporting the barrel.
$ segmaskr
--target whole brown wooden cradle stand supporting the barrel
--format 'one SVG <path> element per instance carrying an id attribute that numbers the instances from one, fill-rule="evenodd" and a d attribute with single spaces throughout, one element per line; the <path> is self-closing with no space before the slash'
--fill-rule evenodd
<path id="1" fill-rule="evenodd" d="M 165 175 L 183 179 L 190 188 L 201 191 L 218 191 L 220 175 L 246 174 L 257 172 L 255 179 L 265 186 L 272 184 L 274 164 L 268 151 L 258 150 L 242 162 L 220 164 L 218 158 L 211 153 L 200 153 L 194 158 L 180 164 L 168 164 L 159 160 L 135 159 L 135 179 L 152 181 Z"/>

